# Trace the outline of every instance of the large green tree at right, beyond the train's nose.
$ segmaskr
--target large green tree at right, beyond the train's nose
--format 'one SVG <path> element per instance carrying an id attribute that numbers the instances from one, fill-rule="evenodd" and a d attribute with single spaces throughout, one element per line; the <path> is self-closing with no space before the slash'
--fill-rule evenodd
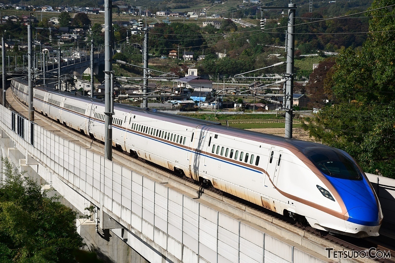
<path id="1" fill-rule="evenodd" d="M 387 6 L 375 0 L 371 9 Z M 349 152 L 369 173 L 395 178 L 395 9 L 367 13 L 367 40 L 339 54 L 333 77 L 333 105 L 326 105 L 304 127 L 324 144 Z"/>

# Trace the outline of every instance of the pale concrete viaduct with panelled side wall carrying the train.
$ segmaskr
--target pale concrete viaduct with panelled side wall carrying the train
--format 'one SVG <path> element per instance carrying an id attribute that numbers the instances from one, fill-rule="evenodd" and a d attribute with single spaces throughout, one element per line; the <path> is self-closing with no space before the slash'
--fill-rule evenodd
<path id="1" fill-rule="evenodd" d="M 7 97 L 15 100 L 11 90 Z M 93 221 L 84 222 L 95 230 L 90 237 L 116 239 L 141 255 L 140 262 L 322 263 L 333 262 L 326 247 L 345 250 L 123 154 L 109 161 L 102 144 L 84 143 L 81 134 L 44 116 L 29 122 L 26 109 L 13 108 L 0 106 L 2 156 L 53 187 L 80 214 L 96 207 Z M 385 214 L 394 215 L 394 180 L 369 178 Z M 110 252 L 114 261 L 132 261 L 117 253 Z"/>

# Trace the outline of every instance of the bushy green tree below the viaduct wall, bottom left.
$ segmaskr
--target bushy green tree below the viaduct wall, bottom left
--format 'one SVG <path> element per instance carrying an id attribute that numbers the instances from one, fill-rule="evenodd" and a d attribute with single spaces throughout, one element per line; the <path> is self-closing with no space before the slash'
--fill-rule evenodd
<path id="1" fill-rule="evenodd" d="M 77 212 L 48 197 L 32 178 L 2 158 L 6 180 L 0 185 L 1 262 L 77 262 L 85 246 L 75 226 Z"/>

